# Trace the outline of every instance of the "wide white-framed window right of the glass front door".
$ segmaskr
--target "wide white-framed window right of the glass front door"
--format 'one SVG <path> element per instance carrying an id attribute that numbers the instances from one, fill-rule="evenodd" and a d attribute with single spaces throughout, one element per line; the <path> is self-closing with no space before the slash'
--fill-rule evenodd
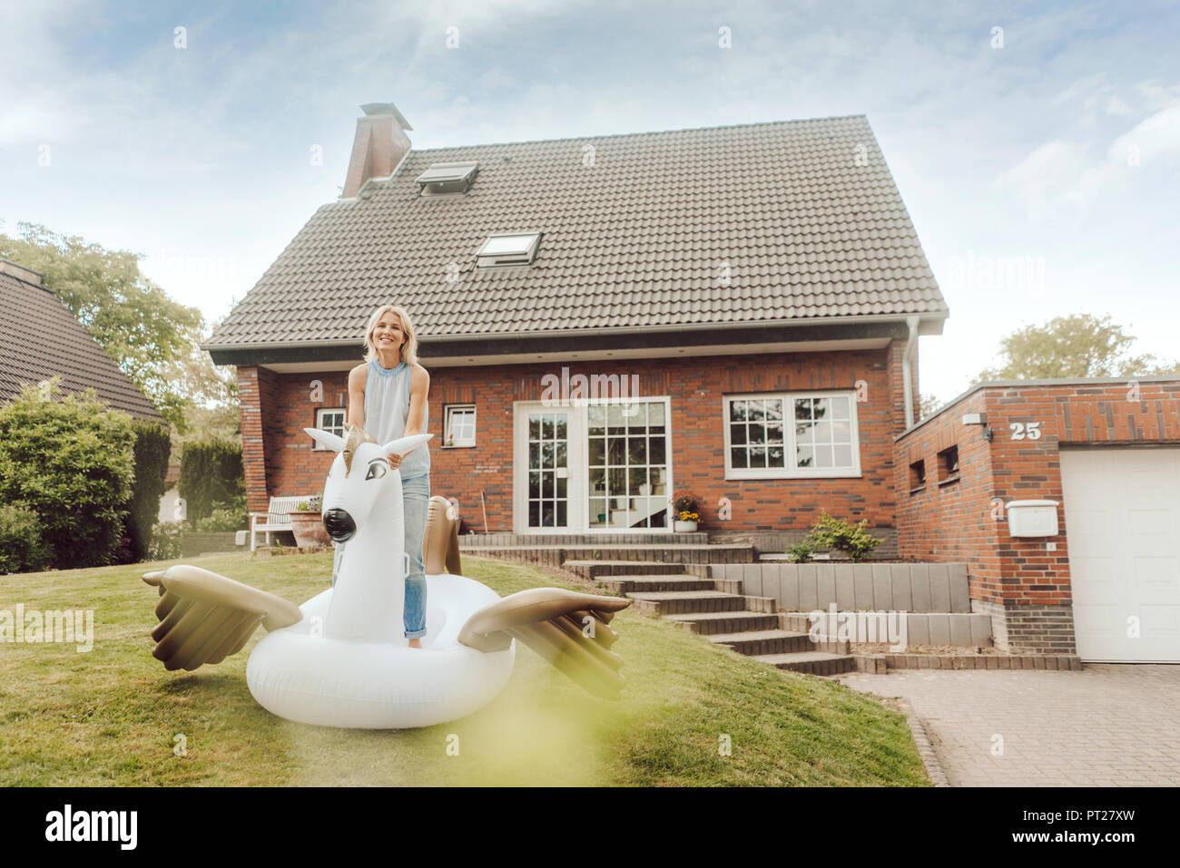
<path id="1" fill-rule="evenodd" d="M 859 476 L 856 393 L 726 395 L 726 479 Z"/>

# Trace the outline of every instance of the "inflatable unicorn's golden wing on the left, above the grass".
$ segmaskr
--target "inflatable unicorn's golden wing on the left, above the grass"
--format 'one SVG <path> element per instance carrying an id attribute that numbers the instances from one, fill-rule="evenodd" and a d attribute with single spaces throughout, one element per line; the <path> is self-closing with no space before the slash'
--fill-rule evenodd
<path id="1" fill-rule="evenodd" d="M 145 573 L 144 581 L 159 587 L 151 655 L 169 671 L 221 663 L 242 650 L 258 624 L 270 631 L 303 619 L 294 603 L 198 566 L 177 564 Z"/>

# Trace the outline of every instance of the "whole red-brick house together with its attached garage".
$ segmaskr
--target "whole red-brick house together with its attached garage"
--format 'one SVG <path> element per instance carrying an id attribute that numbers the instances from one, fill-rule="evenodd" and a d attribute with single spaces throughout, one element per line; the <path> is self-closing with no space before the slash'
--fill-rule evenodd
<path id="1" fill-rule="evenodd" d="M 1002 650 L 1180 660 L 1180 377 L 982 383 L 917 421 L 949 311 L 865 118 L 414 151 L 363 110 L 340 200 L 208 342 L 238 366 L 251 509 L 322 485 L 302 429 L 341 428 L 394 301 L 465 531 L 597 558 L 669 539 L 690 489 L 709 542 L 781 553 L 826 508 L 931 564 L 914 599 L 965 576 L 953 605 L 905 604 L 905 570 L 881 594 L 943 612 L 931 637 L 985 614 Z M 894 580 L 740 554 L 726 580 L 780 607 Z"/>

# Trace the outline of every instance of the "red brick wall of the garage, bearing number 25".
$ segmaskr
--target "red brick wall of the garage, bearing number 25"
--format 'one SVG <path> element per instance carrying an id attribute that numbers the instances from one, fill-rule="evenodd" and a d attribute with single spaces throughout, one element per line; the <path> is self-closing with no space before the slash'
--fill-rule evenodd
<path id="1" fill-rule="evenodd" d="M 1071 600 L 1069 548 L 1061 487 L 1061 443 L 1180 442 L 1180 377 L 1139 381 L 1138 395 L 1119 382 L 991 387 L 974 392 L 898 439 L 898 546 L 903 558 L 965 560 L 971 597 L 995 603 L 1061 605 Z M 1129 399 L 1136 400 L 1129 400 Z M 986 413 L 994 440 L 965 413 Z M 1040 422 L 1038 439 L 1012 439 L 1012 423 Z M 1027 432 L 1027 429 L 1025 429 Z M 958 482 L 939 486 L 937 452 L 957 443 Z M 909 492 L 910 462 L 925 459 L 924 491 Z M 932 469 L 933 468 L 933 469 Z M 1055 538 L 1012 538 L 991 505 L 1014 499 L 1061 504 Z M 1057 550 L 1045 550 L 1055 541 Z"/>

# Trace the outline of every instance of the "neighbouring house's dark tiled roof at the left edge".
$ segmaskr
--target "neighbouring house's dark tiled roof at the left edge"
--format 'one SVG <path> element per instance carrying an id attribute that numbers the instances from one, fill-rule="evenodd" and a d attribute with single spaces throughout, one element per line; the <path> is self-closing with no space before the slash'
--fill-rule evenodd
<path id="1" fill-rule="evenodd" d="M 98 346 L 35 271 L 0 261 L 0 401 L 61 376 L 61 388 L 94 388 L 99 399 L 136 419 L 159 410 Z"/>

